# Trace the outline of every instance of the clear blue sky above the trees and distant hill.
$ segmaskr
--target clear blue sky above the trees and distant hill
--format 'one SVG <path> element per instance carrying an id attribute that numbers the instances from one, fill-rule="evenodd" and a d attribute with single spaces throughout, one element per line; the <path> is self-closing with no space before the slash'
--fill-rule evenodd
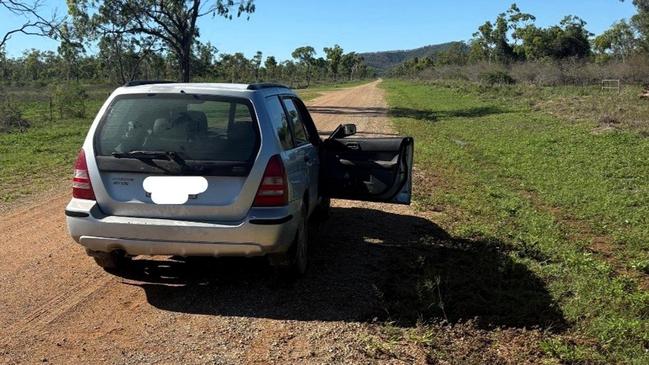
<path id="1" fill-rule="evenodd" d="M 66 13 L 64 0 L 44 0 L 43 11 Z M 600 33 L 613 22 L 634 13 L 631 0 L 522 0 L 521 10 L 534 14 L 537 24 L 558 23 L 568 14 L 579 15 L 588 29 Z M 256 0 L 250 20 L 204 17 L 199 21 L 202 41 L 220 52 L 259 50 L 281 60 L 299 46 L 311 45 L 320 55 L 335 43 L 346 51 L 368 52 L 410 49 L 428 44 L 468 40 L 477 27 L 506 10 L 512 0 Z M 20 21 L 0 11 L 0 34 Z M 52 40 L 15 36 L 11 56 L 29 48 L 55 50 Z"/>

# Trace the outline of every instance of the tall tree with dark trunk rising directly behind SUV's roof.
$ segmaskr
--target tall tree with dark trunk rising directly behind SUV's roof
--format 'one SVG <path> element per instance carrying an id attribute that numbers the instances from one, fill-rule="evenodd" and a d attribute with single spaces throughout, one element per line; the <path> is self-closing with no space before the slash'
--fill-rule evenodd
<path id="1" fill-rule="evenodd" d="M 104 35 L 145 37 L 173 52 L 179 79 L 191 76 L 192 46 L 199 36 L 196 22 L 206 15 L 232 19 L 252 14 L 254 0 L 69 0 L 68 11 L 80 34 L 90 39 Z"/>

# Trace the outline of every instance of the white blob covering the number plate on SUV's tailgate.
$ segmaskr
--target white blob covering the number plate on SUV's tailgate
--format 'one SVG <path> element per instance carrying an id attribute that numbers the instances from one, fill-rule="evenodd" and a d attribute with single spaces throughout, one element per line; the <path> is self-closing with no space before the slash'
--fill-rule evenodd
<path id="1" fill-rule="evenodd" d="M 149 176 L 142 187 L 156 204 L 185 204 L 207 190 L 207 179 L 202 176 Z"/>

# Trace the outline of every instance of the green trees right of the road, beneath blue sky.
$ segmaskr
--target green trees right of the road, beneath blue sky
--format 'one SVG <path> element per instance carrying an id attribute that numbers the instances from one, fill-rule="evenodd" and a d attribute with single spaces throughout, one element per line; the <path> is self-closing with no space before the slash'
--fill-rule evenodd
<path id="1" fill-rule="evenodd" d="M 445 65 L 487 63 L 508 66 L 525 62 L 626 63 L 649 56 L 649 0 L 634 0 L 637 13 L 615 22 L 602 34 L 588 31 L 587 23 L 568 15 L 559 24 L 540 27 L 536 17 L 512 4 L 495 20 L 486 21 L 468 42 L 452 43 L 431 56 L 408 60 L 392 70 L 395 75 Z"/>

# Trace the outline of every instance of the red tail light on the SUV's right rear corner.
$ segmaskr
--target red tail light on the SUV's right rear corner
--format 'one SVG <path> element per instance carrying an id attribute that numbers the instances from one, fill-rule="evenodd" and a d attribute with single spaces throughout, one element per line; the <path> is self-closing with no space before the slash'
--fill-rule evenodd
<path id="1" fill-rule="evenodd" d="M 255 207 L 276 207 L 287 204 L 288 181 L 286 181 L 286 170 L 282 158 L 275 155 L 268 160 L 253 205 Z"/>

